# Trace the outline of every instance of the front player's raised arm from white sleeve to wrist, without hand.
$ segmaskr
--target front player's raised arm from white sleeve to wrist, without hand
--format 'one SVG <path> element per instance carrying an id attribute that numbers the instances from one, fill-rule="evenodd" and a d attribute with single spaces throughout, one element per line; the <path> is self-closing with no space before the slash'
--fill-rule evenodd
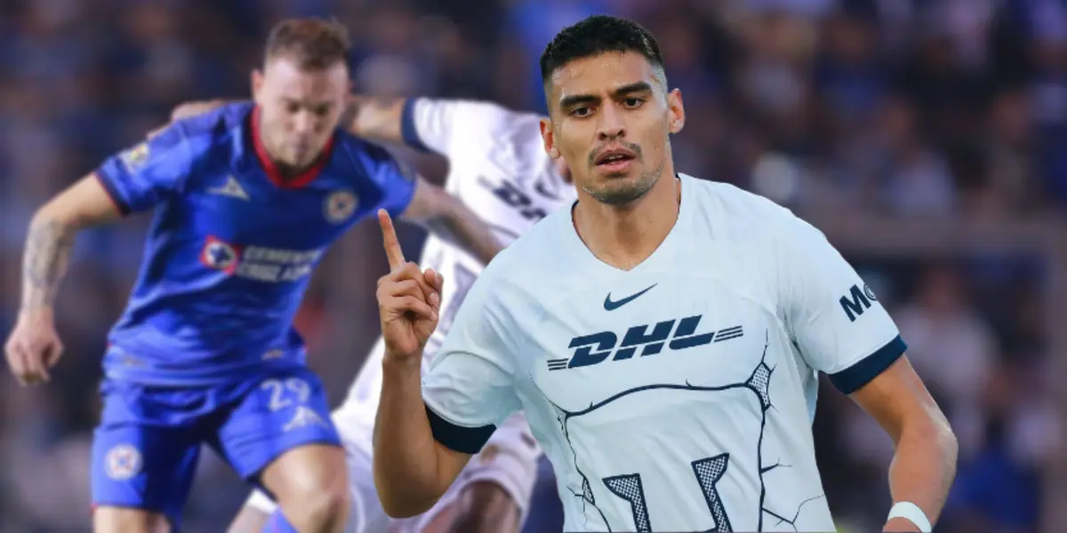
<path id="1" fill-rule="evenodd" d="M 430 510 L 496 425 L 521 408 L 507 364 L 513 321 L 499 305 L 494 265 L 475 280 L 421 379 L 420 357 L 383 358 L 373 468 L 392 517 Z"/>

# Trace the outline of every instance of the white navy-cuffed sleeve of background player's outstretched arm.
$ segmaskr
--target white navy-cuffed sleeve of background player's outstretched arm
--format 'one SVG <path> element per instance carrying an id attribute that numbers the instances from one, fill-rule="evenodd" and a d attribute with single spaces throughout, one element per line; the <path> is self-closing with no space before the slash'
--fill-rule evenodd
<path id="1" fill-rule="evenodd" d="M 400 134 L 412 148 L 452 157 L 463 144 L 488 140 L 515 114 L 483 101 L 410 98 L 400 113 Z"/>

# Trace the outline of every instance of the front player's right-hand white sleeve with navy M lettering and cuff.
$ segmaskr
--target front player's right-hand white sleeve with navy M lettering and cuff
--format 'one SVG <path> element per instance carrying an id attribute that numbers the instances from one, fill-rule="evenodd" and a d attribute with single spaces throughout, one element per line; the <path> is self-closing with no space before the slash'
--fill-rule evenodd
<path id="1" fill-rule="evenodd" d="M 776 233 L 781 312 L 811 368 L 850 394 L 899 358 L 899 330 L 859 274 L 807 222 L 787 216 Z"/>

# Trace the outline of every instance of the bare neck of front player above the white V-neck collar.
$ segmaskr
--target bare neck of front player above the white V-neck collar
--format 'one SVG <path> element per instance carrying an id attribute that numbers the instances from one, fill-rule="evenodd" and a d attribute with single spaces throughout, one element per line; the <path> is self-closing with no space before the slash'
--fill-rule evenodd
<path id="1" fill-rule="evenodd" d="M 631 270 L 648 259 L 670 233 L 681 199 L 681 181 L 665 168 L 644 196 L 626 206 L 608 206 L 592 198 L 579 201 L 574 209 L 575 230 L 598 259 Z"/>

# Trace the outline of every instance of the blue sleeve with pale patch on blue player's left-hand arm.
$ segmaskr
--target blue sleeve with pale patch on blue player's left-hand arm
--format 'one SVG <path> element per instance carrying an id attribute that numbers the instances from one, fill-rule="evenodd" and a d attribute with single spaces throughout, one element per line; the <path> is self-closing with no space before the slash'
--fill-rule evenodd
<path id="1" fill-rule="evenodd" d="M 96 177 L 118 211 L 152 209 L 181 188 L 193 166 L 193 148 L 177 126 L 103 161 Z"/>

